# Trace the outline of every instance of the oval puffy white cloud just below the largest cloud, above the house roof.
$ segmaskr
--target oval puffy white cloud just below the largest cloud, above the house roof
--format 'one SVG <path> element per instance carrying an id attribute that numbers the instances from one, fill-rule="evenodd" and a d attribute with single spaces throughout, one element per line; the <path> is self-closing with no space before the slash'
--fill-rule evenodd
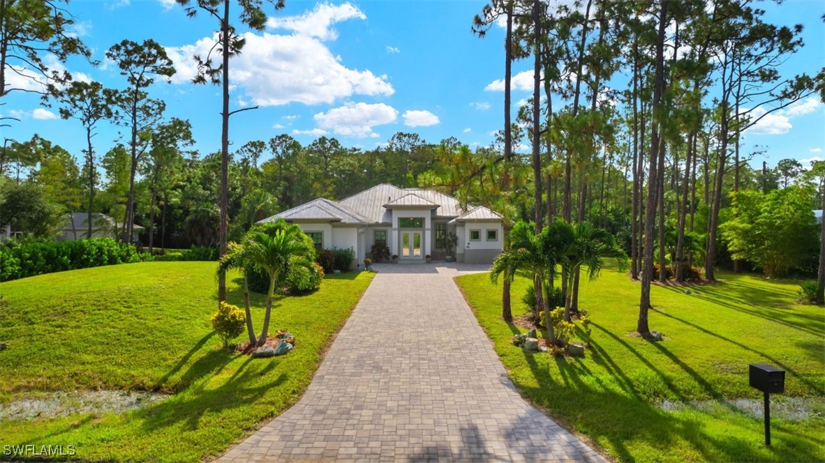
<path id="1" fill-rule="evenodd" d="M 313 117 L 320 129 L 329 130 L 337 135 L 377 138 L 379 135 L 373 131 L 373 127 L 395 122 L 398 111 L 384 103 L 370 105 L 361 102 L 347 103 Z"/>

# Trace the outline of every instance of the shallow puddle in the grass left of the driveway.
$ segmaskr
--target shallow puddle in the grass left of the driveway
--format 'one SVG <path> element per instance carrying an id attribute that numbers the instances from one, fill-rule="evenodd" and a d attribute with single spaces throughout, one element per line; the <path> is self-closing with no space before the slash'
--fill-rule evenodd
<path id="1" fill-rule="evenodd" d="M 170 395 L 156 392 L 49 392 L 0 403 L 0 421 L 50 419 L 73 414 L 122 413 L 151 405 Z"/>

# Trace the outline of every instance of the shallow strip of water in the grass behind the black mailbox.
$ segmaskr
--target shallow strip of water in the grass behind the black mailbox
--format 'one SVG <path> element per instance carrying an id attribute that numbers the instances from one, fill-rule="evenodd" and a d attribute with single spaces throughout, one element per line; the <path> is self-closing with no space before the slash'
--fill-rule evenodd
<path id="1" fill-rule="evenodd" d="M 690 402 L 665 400 L 658 404 L 658 408 L 668 412 L 675 412 L 689 407 L 704 412 L 726 408 L 756 419 L 762 418 L 762 406 L 762 400 L 754 399 L 693 400 Z M 817 416 L 823 417 L 823 414 L 825 414 L 825 399 L 823 398 L 771 396 L 771 419 L 802 421 Z"/>

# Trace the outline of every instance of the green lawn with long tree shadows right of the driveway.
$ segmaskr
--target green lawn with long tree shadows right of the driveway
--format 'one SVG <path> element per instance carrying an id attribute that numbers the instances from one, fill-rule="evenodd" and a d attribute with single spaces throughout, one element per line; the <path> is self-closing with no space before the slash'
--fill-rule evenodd
<path id="1" fill-rule="evenodd" d="M 614 269 L 595 282 L 582 279 L 580 305 L 590 313 L 592 334 L 580 359 L 513 346 L 518 328 L 501 319 L 501 286 L 488 274 L 456 278 L 521 394 L 615 460 L 825 461 L 825 309 L 794 304 L 793 282 L 721 279 L 690 295 L 654 286 L 649 320 L 664 334 L 662 343 L 629 335 L 639 316 L 639 283 Z M 526 312 L 520 299 L 527 283 L 513 284 L 514 315 Z M 808 398 L 814 415 L 773 419 L 770 448 L 761 419 L 724 405 L 761 399 L 748 386 L 752 362 L 784 368 L 785 396 Z M 704 406 L 663 411 L 663 400 Z"/>

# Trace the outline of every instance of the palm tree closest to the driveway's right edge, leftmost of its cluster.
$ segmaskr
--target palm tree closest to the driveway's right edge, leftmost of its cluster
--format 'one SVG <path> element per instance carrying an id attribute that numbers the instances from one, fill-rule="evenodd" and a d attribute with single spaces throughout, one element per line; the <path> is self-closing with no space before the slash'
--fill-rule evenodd
<path id="1" fill-rule="evenodd" d="M 553 323 L 550 322 L 549 288 L 553 286 L 553 280 L 550 277 L 556 266 L 556 253 L 549 246 L 551 241 L 548 239 L 547 229 L 545 228 L 538 235 L 534 230 L 535 227 L 528 222 L 516 222 L 508 235 L 507 250 L 493 260 L 490 281 L 497 283 L 499 276 L 503 274 L 505 281 L 512 283 L 518 270 L 532 272 L 534 275 L 533 294 L 535 295 L 533 310 L 537 312 L 539 306 L 544 310 L 547 341 L 555 344 L 558 339 L 556 339 Z"/>

